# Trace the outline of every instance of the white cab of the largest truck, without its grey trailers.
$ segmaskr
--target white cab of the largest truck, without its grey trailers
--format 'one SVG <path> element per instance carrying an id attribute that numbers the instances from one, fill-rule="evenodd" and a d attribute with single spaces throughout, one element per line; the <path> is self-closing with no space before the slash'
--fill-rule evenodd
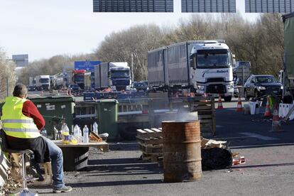
<path id="1" fill-rule="evenodd" d="M 226 102 L 234 94 L 234 55 L 225 43 L 209 41 L 193 45 L 190 77 L 198 94 L 222 94 Z"/>

